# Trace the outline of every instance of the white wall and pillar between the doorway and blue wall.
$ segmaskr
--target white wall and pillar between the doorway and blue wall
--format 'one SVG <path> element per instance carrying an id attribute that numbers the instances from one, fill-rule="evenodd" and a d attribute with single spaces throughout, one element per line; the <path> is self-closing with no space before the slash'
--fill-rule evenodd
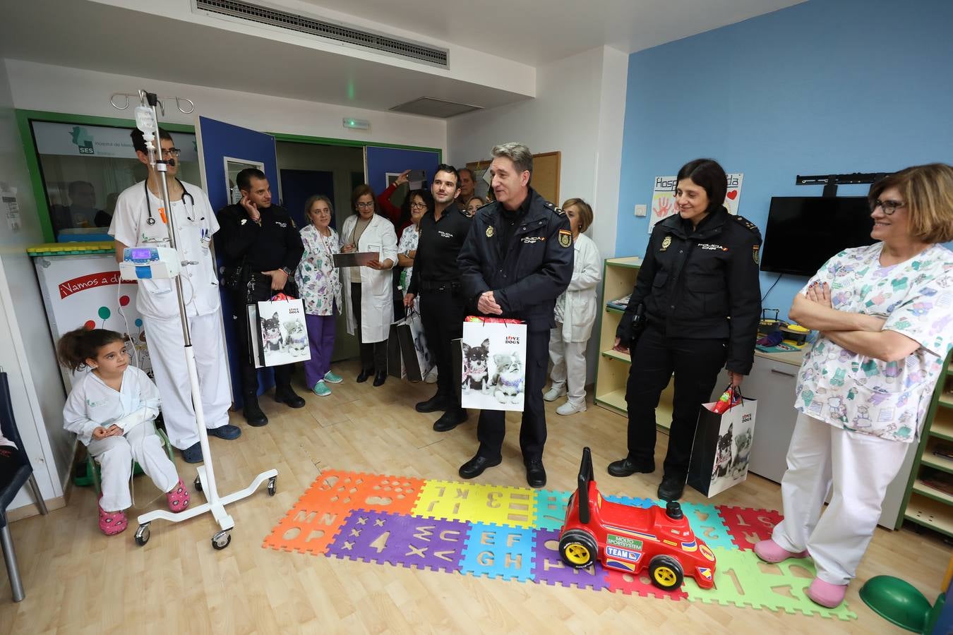
<path id="1" fill-rule="evenodd" d="M 535 99 L 449 120 L 450 163 L 489 159 L 490 149 L 508 141 L 524 143 L 534 153 L 560 151 L 560 200 L 553 203 L 573 197 L 588 201 L 595 220 L 587 234 L 602 257 L 611 258 L 616 255 L 627 75 L 628 56 L 609 47 L 538 67 Z M 589 382 L 596 376 L 598 328 L 590 339 Z"/>

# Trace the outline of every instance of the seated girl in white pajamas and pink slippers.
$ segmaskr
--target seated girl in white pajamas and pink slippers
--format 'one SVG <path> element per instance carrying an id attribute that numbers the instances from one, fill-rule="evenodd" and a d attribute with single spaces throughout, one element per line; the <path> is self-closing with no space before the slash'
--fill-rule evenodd
<path id="1" fill-rule="evenodd" d="M 132 462 L 166 492 L 173 512 L 189 506 L 189 492 L 169 460 L 153 421 L 159 391 L 149 376 L 129 365 L 123 337 L 104 328 L 77 328 L 56 347 L 60 363 L 73 371 L 89 367 L 73 386 L 63 407 L 63 427 L 75 432 L 102 466 L 99 528 L 107 536 L 128 525 L 132 506 Z"/>

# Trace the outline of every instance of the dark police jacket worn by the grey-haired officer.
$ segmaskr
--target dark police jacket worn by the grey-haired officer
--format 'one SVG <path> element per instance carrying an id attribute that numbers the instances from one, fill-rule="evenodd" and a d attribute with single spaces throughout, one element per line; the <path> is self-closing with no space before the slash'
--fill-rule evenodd
<path id="1" fill-rule="evenodd" d="M 555 327 L 556 299 L 573 277 L 569 219 L 530 188 L 508 246 L 500 244 L 504 222 L 499 203 L 476 211 L 456 260 L 464 297 L 476 307 L 480 294 L 493 291 L 503 314 L 491 317 L 523 320 L 527 330 Z"/>

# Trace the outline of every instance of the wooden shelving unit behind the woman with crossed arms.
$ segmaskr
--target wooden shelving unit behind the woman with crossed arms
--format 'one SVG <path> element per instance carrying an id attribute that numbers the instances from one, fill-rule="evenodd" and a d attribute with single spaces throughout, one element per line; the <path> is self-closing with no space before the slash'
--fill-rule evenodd
<path id="1" fill-rule="evenodd" d="M 934 454 L 938 446 L 953 447 L 953 364 L 949 359 L 926 414 L 897 527 L 906 520 L 953 538 L 953 495 L 928 483 L 931 472 L 953 474 L 953 459 Z"/>

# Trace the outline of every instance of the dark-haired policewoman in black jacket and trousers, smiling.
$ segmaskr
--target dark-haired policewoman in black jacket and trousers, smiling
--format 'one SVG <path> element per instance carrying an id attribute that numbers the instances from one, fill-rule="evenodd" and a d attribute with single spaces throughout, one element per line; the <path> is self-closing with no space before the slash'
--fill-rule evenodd
<path id="1" fill-rule="evenodd" d="M 674 214 L 649 239 L 636 287 L 619 321 L 616 346 L 629 348 L 625 399 L 629 453 L 609 465 L 613 476 L 655 470 L 659 395 L 675 373 L 672 427 L 659 498 L 681 496 L 701 404 L 721 367 L 738 387 L 751 371 L 760 319 L 758 228 L 721 202 L 727 179 L 711 159 L 679 170 Z M 633 318 L 644 318 L 635 343 Z"/>

